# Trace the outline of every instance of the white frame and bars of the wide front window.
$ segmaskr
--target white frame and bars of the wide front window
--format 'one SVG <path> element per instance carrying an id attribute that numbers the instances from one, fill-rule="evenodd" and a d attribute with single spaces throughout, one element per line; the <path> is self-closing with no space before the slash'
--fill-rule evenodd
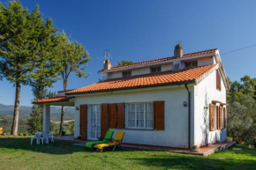
<path id="1" fill-rule="evenodd" d="M 135 104 L 135 127 L 128 127 L 128 105 L 129 104 Z M 137 127 L 137 122 L 138 122 L 138 117 L 137 117 L 137 104 L 144 104 L 144 127 Z M 152 127 L 147 128 L 146 123 L 147 123 L 147 111 L 146 107 L 147 104 L 152 105 Z M 147 102 L 129 102 L 125 103 L 125 112 L 124 112 L 124 118 L 125 118 L 125 125 L 124 129 L 142 129 L 142 130 L 154 130 L 154 103 L 152 101 L 147 101 Z M 140 119 L 139 119 L 140 120 Z"/>

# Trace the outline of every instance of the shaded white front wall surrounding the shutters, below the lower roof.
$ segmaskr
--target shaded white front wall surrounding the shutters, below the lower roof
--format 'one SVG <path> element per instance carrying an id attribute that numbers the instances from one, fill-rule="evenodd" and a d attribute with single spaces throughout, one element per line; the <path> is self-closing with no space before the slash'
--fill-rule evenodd
<path id="1" fill-rule="evenodd" d="M 177 88 L 161 89 L 154 87 L 152 90 L 109 92 L 102 95 L 84 95 L 75 98 L 75 106 L 82 104 L 102 104 L 120 102 L 148 102 L 164 100 L 165 129 L 164 130 L 132 130 L 113 129 L 125 132 L 124 143 L 152 144 L 171 147 L 187 147 L 188 144 L 188 107 L 183 102 L 188 102 L 188 92 L 184 85 Z M 79 111 L 75 112 L 75 135 L 79 137 Z"/>

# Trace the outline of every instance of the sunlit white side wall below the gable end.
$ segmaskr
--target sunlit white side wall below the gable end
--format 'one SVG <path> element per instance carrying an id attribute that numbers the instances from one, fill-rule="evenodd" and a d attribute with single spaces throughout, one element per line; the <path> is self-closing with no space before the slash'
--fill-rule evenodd
<path id="1" fill-rule="evenodd" d="M 194 86 L 194 139 L 196 145 L 214 144 L 217 138 L 226 140 L 226 129 L 209 131 L 209 103 L 212 100 L 226 103 L 226 89 L 222 82 L 222 91 L 216 90 L 216 72 L 213 71 L 207 78 Z M 208 107 L 208 108 L 204 108 Z"/>

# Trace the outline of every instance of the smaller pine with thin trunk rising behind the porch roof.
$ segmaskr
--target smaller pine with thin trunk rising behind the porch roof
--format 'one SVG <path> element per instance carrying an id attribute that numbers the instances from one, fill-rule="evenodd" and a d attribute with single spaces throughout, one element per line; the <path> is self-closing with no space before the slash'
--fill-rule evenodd
<path id="1" fill-rule="evenodd" d="M 91 60 L 88 52 L 78 41 L 70 41 L 70 37 L 67 37 L 64 32 L 58 34 L 57 54 L 61 58 L 60 76 L 63 80 L 64 91 L 68 89 L 68 78 L 71 73 L 74 73 L 79 78 L 88 77 L 84 72 L 87 69 L 87 63 Z M 64 129 L 64 107 L 62 107 L 61 112 L 60 136 Z"/>

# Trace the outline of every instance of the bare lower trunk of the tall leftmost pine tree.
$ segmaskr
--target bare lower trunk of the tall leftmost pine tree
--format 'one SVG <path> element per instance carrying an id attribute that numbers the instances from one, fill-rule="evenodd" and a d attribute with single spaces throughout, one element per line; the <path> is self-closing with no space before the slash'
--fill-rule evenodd
<path id="1" fill-rule="evenodd" d="M 13 122 L 11 126 L 11 135 L 18 135 L 18 125 L 19 125 L 19 100 L 20 100 L 20 84 L 16 83 L 16 93 L 15 93 L 15 103 L 13 112 Z"/>

